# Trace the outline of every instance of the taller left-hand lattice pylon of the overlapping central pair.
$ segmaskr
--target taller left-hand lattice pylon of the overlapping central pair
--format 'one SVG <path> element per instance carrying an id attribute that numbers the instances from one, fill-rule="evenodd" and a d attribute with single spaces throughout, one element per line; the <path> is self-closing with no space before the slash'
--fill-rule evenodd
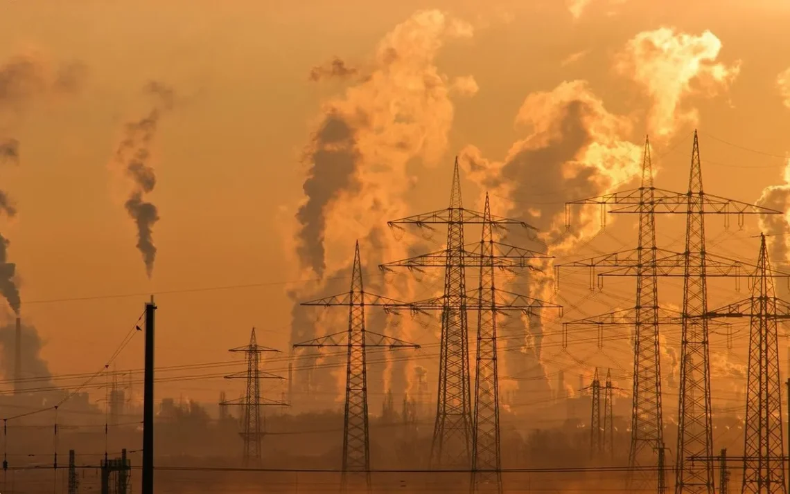
<path id="1" fill-rule="evenodd" d="M 466 268 L 490 264 L 483 260 L 481 252 L 470 252 L 464 244 L 464 229 L 469 224 L 490 223 L 492 228 L 522 226 L 532 232 L 533 226 L 515 219 L 491 216 L 466 209 L 461 201 L 461 178 L 458 159 L 453 168 L 453 185 L 450 189 L 450 207 L 389 222 L 390 227 L 402 229 L 404 225 L 416 225 L 434 230 L 434 225 L 447 226 L 446 249 L 412 257 L 393 263 L 382 264 L 389 270 L 395 267 L 409 269 L 444 268 L 444 294 L 441 298 L 423 306 L 435 309 L 440 302 L 442 310 L 442 334 L 439 350 L 438 400 L 433 440 L 431 442 L 431 466 L 466 469 L 471 464 L 472 442 L 472 399 L 469 390 L 468 309 L 476 304 L 468 301 L 466 290 Z M 530 260 L 550 258 L 541 253 L 520 249 L 511 245 L 493 242 L 493 267 L 532 268 Z"/>

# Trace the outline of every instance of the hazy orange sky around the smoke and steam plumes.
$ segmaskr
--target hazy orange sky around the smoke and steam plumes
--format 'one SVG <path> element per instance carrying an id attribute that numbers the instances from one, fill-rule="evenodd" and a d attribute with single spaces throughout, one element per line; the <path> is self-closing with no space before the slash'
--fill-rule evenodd
<path id="1" fill-rule="evenodd" d="M 473 36 L 448 41 L 435 65 L 451 78 L 472 75 L 479 91 L 452 98 L 442 166 L 409 163 L 419 178 L 405 194 L 410 213 L 444 205 L 452 157 L 469 144 L 487 159 L 504 159 L 525 137 L 513 124 L 525 98 L 562 81 L 588 80 L 609 112 L 632 118 L 634 130 L 624 138 L 639 143 L 653 103 L 639 84 L 616 73 L 614 59 L 639 32 L 664 26 L 694 36 L 708 29 L 722 43 L 716 62 L 740 61 L 737 77 L 717 95 L 689 95 L 682 105 L 699 111 L 706 188 L 757 200 L 764 187 L 781 184 L 783 160 L 705 135 L 776 155 L 790 150 L 790 109 L 776 87 L 777 75 L 790 67 L 790 5 L 687 3 L 591 0 L 574 19 L 559 0 L 6 2 L 0 63 L 35 51 L 49 66 L 76 60 L 87 67 L 79 95 L 36 98 L 10 119 L 7 133 L 21 141 L 21 163 L 0 169 L 2 189 L 19 210 L 0 227 L 21 276 L 24 317 L 46 339 L 51 370 L 100 369 L 145 301 L 55 301 L 64 298 L 272 283 L 157 296 L 157 361 L 224 361 L 225 350 L 246 342 L 252 326 L 262 344 L 286 350 L 291 307 L 282 282 L 306 277 L 286 252 L 303 201 L 300 158 L 322 101 L 354 84 L 310 83 L 310 69 L 333 56 L 370 67 L 379 40 L 418 9 L 446 10 L 472 24 Z M 151 281 L 109 166 L 123 123 L 149 110 L 141 95 L 149 80 L 170 84 L 180 98 L 152 144 L 158 182 L 149 199 L 161 219 Z M 691 129 L 683 125 L 668 143 Z M 658 163 L 657 185 L 685 188 L 689 152 L 686 140 Z M 442 191 L 438 197 L 435 190 Z M 465 193 L 471 202 L 479 190 L 465 182 Z M 630 232 L 619 235 L 628 245 L 635 240 Z M 756 254 L 756 245 L 731 247 Z M 331 255 L 350 256 L 351 249 L 349 240 L 348 249 Z M 119 369 L 141 366 L 141 340 L 119 357 Z M 223 388 L 231 395 L 241 389 L 198 381 L 163 384 L 158 392 L 213 400 Z"/>

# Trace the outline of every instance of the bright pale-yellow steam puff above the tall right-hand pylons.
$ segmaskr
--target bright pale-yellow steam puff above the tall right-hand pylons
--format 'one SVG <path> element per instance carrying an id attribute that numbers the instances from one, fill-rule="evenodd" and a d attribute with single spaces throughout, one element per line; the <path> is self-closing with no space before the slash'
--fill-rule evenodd
<path id="1" fill-rule="evenodd" d="M 653 99 L 651 135 L 667 137 L 682 125 L 696 123 L 698 111 L 683 110 L 683 98 L 695 92 L 716 95 L 738 76 L 740 62 L 715 62 L 720 50 L 721 41 L 712 32 L 693 36 L 672 28 L 640 32 L 626 44 L 615 67 Z"/>

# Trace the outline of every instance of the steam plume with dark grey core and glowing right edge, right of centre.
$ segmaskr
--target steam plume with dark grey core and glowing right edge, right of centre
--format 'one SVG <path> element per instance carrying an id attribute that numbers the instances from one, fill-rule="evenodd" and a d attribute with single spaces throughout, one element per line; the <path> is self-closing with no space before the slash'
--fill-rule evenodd
<path id="1" fill-rule="evenodd" d="M 630 122 L 609 113 L 583 80 L 529 95 L 516 121 L 526 125 L 529 134 L 511 146 L 503 161 L 487 160 L 480 150 L 468 146 L 461 152 L 461 163 L 468 177 L 496 199 L 491 205 L 495 214 L 537 226 L 552 253 L 565 252 L 579 239 L 592 236 L 598 223 L 593 215 L 577 211 L 574 234 L 566 235 L 564 204 L 607 193 L 638 177 L 640 147 L 623 138 L 630 133 Z M 533 296 L 551 300 L 546 281 L 530 280 Z M 521 334 L 510 339 L 511 354 L 517 356 L 506 362 L 511 375 L 540 369 L 536 359 L 540 359 L 542 337 L 540 317 L 532 317 Z M 530 339 L 534 354 L 523 355 Z"/>

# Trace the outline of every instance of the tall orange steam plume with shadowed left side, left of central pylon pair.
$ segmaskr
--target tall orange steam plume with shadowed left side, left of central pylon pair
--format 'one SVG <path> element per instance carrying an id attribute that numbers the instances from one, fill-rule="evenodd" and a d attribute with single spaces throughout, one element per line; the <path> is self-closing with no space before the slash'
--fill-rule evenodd
<path id="1" fill-rule="evenodd" d="M 305 275 L 348 276 L 355 238 L 360 241 L 363 263 L 372 272 L 377 264 L 406 255 L 406 242 L 396 241 L 385 230 L 386 222 L 409 212 L 403 199 L 413 183 L 407 165 L 433 165 L 443 157 L 453 121 L 450 97 L 476 92 L 471 77 L 450 80 L 434 62 L 446 39 L 469 36 L 471 26 L 438 10 L 417 12 L 382 39 L 374 59 L 365 64 L 366 73 L 343 95 L 323 104 L 304 154 L 308 167 L 305 200 L 295 215 L 295 245 L 289 247 L 299 257 Z M 450 170 L 448 163 L 448 174 Z M 390 296 L 397 292 L 398 297 L 408 297 L 413 290 L 406 277 L 393 279 L 392 285 L 377 279 L 365 283 L 366 290 L 380 294 L 392 290 Z M 323 285 L 291 296 L 295 304 L 317 298 L 325 293 Z M 348 280 L 343 285 L 340 291 L 348 290 Z M 295 312 L 303 310 L 295 308 Z M 318 330 L 305 327 L 307 318 L 294 313 L 292 341 L 348 324 L 348 314 L 338 314 L 337 320 L 331 317 L 326 314 Z M 383 331 L 374 327 L 372 318 L 368 322 L 371 331 Z M 408 339 L 407 333 L 408 327 L 401 327 L 397 336 Z M 405 369 L 392 367 L 389 372 L 408 379 Z M 327 378 L 325 373 L 320 377 Z M 386 384 L 398 392 L 399 384 Z"/>

